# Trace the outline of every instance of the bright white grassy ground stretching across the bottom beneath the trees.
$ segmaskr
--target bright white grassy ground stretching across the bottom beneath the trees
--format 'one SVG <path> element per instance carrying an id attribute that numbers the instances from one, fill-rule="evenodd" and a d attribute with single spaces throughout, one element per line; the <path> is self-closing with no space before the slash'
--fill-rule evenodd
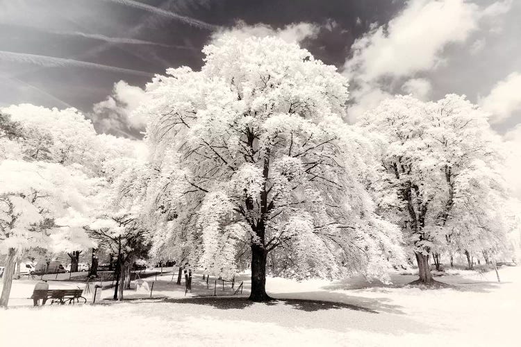
<path id="1" fill-rule="evenodd" d="M 346 305 L 249 303 L 228 296 L 33 308 L 26 299 L 33 284 L 16 281 L 13 308 L 0 311 L 0 342 L 3 346 L 518 346 L 521 266 L 504 267 L 500 275 L 498 284 L 494 272 L 461 271 L 438 278 L 454 289 L 436 290 L 399 286 L 415 276 L 393 276 L 391 286 L 368 284 L 362 278 L 267 279 L 267 291 L 275 298 Z M 163 277 L 158 280 L 168 278 Z M 75 287 L 70 282 L 50 285 Z M 172 284 L 172 288 L 176 290 L 158 292 L 184 296 L 181 287 Z M 111 294 L 104 291 L 105 297 Z M 126 297 L 130 294 L 138 295 L 129 291 Z"/>

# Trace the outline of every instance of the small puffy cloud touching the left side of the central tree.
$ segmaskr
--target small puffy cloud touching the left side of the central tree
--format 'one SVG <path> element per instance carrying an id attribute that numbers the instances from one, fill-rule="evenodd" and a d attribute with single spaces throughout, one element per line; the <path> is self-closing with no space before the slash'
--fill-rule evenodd
<path id="1" fill-rule="evenodd" d="M 140 138 L 144 130 L 144 119 L 133 111 L 147 101 L 147 94 L 140 87 L 125 81 L 115 83 L 113 94 L 106 100 L 95 103 L 90 118 L 99 133 L 110 133 L 131 138 Z"/>

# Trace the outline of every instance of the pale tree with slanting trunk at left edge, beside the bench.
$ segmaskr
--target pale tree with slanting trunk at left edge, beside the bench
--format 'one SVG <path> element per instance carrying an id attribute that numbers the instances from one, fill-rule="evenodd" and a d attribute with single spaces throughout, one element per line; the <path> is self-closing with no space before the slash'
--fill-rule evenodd
<path id="1" fill-rule="evenodd" d="M 0 306 L 8 305 L 17 253 L 36 246 L 60 248 L 68 228 L 55 221 L 75 223 L 78 214 L 88 212 L 97 183 L 60 164 L 0 162 L 0 251 L 8 255 Z"/>

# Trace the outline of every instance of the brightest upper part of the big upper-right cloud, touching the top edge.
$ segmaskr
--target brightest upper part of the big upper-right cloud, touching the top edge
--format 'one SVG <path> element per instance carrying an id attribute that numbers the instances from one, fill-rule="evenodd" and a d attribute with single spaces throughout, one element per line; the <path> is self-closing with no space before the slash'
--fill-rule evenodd
<path id="1" fill-rule="evenodd" d="M 447 44 L 465 41 L 477 28 L 478 9 L 465 0 L 411 0 L 387 26 L 356 40 L 347 72 L 371 81 L 432 69 Z"/>

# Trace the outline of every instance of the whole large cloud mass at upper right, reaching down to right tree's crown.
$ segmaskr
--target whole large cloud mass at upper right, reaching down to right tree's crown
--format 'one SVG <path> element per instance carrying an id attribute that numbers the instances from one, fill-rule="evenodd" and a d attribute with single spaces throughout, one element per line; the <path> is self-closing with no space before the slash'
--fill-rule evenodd
<path id="1" fill-rule="evenodd" d="M 387 24 L 374 24 L 359 37 L 343 71 L 352 85 L 349 120 L 355 121 L 386 94 L 405 92 L 427 99 L 460 92 L 452 79 L 455 69 L 463 69 L 445 68 L 457 58 L 482 51 L 486 40 L 475 36 L 484 28 L 500 28 L 499 16 L 512 5 L 508 0 L 483 1 L 479 6 L 477 0 L 410 0 Z M 451 71 L 449 78 L 436 76 L 442 68 Z"/>

